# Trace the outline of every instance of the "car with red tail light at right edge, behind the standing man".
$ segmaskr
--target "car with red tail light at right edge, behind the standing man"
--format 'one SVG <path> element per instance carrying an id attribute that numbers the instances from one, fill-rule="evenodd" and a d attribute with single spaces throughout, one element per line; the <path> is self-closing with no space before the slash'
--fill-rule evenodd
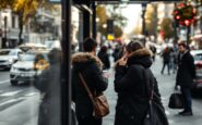
<path id="1" fill-rule="evenodd" d="M 192 92 L 197 92 L 202 89 L 202 50 L 192 50 L 191 54 L 194 59 L 195 65 L 195 79 L 193 82 Z"/>

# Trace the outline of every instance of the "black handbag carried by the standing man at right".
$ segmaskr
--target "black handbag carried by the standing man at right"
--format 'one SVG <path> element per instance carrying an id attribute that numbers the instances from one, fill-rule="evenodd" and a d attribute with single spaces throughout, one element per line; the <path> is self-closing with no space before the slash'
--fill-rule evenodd
<path id="1" fill-rule="evenodd" d="M 183 109 L 185 97 L 180 92 L 174 91 L 169 97 L 168 108 L 170 109 Z"/>

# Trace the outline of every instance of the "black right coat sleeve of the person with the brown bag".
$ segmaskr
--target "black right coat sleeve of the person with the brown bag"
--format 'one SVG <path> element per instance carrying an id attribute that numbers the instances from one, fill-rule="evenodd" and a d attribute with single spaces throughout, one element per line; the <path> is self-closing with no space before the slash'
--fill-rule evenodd
<path id="1" fill-rule="evenodd" d="M 95 89 L 97 91 L 104 91 L 108 87 L 107 78 L 104 77 L 103 72 L 95 64 L 91 68 L 91 77 L 95 82 Z"/>

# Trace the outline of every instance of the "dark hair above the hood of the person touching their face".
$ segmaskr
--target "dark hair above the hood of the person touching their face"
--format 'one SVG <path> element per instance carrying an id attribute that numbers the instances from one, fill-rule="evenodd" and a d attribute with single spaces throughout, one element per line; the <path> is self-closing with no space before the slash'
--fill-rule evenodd
<path id="1" fill-rule="evenodd" d="M 142 49 L 143 48 L 143 45 L 139 41 L 130 41 L 126 49 L 129 53 L 133 52 L 133 51 L 136 51 L 139 49 Z"/>

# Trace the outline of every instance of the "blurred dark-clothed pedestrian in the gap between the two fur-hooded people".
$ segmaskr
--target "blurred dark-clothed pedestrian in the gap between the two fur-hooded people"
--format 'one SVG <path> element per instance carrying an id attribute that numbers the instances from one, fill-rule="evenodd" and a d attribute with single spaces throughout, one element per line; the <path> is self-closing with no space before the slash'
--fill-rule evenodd
<path id="1" fill-rule="evenodd" d="M 109 61 L 109 54 L 107 53 L 107 47 L 103 46 L 98 52 L 98 58 L 104 64 L 103 70 L 108 70 L 110 68 L 110 61 Z"/>

